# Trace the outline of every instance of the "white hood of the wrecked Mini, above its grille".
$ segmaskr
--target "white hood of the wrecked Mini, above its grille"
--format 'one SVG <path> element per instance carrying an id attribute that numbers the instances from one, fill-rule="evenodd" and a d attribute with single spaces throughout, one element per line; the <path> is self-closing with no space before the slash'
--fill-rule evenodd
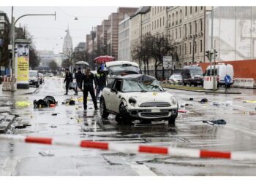
<path id="1" fill-rule="evenodd" d="M 127 101 L 129 98 L 135 98 L 137 103 L 170 102 L 170 98 L 173 97 L 169 92 L 125 92 L 123 96 Z"/>

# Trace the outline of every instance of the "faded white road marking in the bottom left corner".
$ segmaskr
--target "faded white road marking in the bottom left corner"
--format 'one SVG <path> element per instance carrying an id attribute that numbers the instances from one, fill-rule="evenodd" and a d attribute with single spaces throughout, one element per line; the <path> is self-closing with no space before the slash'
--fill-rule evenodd
<path id="1" fill-rule="evenodd" d="M 0 170 L 0 176 L 11 176 L 15 171 L 15 167 L 20 162 L 19 157 L 8 158 L 4 162 L 4 167 Z"/>

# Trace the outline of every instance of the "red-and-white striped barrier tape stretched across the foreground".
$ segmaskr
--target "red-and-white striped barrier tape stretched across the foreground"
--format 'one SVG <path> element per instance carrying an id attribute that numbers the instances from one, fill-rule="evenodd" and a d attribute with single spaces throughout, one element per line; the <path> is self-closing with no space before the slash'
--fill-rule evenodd
<path id="1" fill-rule="evenodd" d="M 176 147 L 141 146 L 138 144 L 105 143 L 95 141 L 64 141 L 53 138 L 26 137 L 22 135 L 0 135 L 0 140 L 23 143 L 39 143 L 53 146 L 74 146 L 89 149 L 118 151 L 127 154 L 162 154 L 170 157 L 219 158 L 232 160 L 256 160 L 256 153 L 241 151 L 208 151 L 200 149 L 184 149 Z"/>

